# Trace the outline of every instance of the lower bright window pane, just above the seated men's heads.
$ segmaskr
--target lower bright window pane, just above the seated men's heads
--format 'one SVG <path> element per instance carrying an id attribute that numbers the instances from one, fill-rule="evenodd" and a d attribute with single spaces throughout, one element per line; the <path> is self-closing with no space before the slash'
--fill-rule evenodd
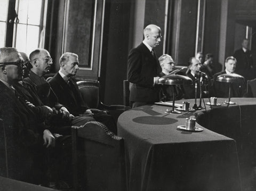
<path id="1" fill-rule="evenodd" d="M 20 52 L 30 54 L 34 49 L 38 48 L 39 27 L 18 24 L 16 48 Z"/>

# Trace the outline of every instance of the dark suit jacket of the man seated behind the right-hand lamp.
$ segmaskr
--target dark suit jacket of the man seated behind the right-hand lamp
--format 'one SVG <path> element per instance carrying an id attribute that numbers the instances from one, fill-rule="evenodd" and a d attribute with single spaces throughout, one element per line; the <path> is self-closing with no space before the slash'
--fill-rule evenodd
<path id="1" fill-rule="evenodd" d="M 227 73 L 226 71 L 222 71 L 219 73 L 215 73 L 213 76 L 213 86 L 212 86 L 212 95 L 215 97 L 228 97 L 229 92 L 229 83 L 216 81 L 217 77 L 220 74 Z M 231 92 L 230 97 L 242 97 L 244 94 L 244 84 L 231 84 Z"/>

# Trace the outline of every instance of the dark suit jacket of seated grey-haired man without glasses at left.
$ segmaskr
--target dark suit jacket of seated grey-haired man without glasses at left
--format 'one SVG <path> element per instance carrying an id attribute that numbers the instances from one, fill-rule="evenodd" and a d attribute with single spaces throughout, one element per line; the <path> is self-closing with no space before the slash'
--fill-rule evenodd
<path id="1" fill-rule="evenodd" d="M 70 85 L 60 76 L 59 72 L 49 81 L 60 103 L 67 106 L 68 111 L 74 115 L 82 114 L 89 107 L 84 103 L 76 82 L 69 78 Z"/>

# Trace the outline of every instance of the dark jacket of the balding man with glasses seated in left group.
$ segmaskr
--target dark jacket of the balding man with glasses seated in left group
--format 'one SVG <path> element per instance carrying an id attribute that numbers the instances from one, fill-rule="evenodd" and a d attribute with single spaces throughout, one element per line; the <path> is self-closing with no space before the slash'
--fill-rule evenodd
<path id="1" fill-rule="evenodd" d="M 30 71 L 29 77 L 25 78 L 23 81 L 25 82 L 25 88 L 38 95 L 44 105 L 55 107 L 57 110 L 63 106 L 58 103 L 58 97 L 44 78 L 40 78 L 37 74 Z"/>

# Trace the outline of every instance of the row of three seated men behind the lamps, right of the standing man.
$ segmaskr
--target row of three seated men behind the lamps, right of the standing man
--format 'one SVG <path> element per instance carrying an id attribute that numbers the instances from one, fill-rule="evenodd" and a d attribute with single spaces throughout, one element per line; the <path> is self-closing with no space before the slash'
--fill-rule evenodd
<path id="1" fill-rule="evenodd" d="M 173 72 L 174 62 L 170 55 L 164 54 L 159 57 L 159 64 L 161 65 L 162 71 L 159 73 L 159 77 L 163 77 Z M 176 72 L 177 74 L 186 75 L 192 79 L 193 84 L 191 85 L 177 85 L 175 86 L 175 99 L 190 99 L 198 98 L 200 96 L 200 88 L 202 88 L 202 97 L 228 97 L 229 85 L 225 82 L 217 81 L 217 77 L 220 74 L 231 74 L 235 72 L 236 59 L 233 56 L 227 57 L 225 61 L 225 70 L 215 73 L 213 79 L 210 79 L 207 74 L 200 72 L 201 62 L 196 57 L 191 57 L 188 61 L 187 72 Z M 197 84 L 197 91 L 195 93 L 195 84 Z M 171 101 L 173 96 L 173 87 L 169 85 L 160 86 L 160 99 L 161 101 Z M 245 86 L 243 84 L 231 84 L 230 95 L 232 97 L 242 97 L 245 94 Z"/>

